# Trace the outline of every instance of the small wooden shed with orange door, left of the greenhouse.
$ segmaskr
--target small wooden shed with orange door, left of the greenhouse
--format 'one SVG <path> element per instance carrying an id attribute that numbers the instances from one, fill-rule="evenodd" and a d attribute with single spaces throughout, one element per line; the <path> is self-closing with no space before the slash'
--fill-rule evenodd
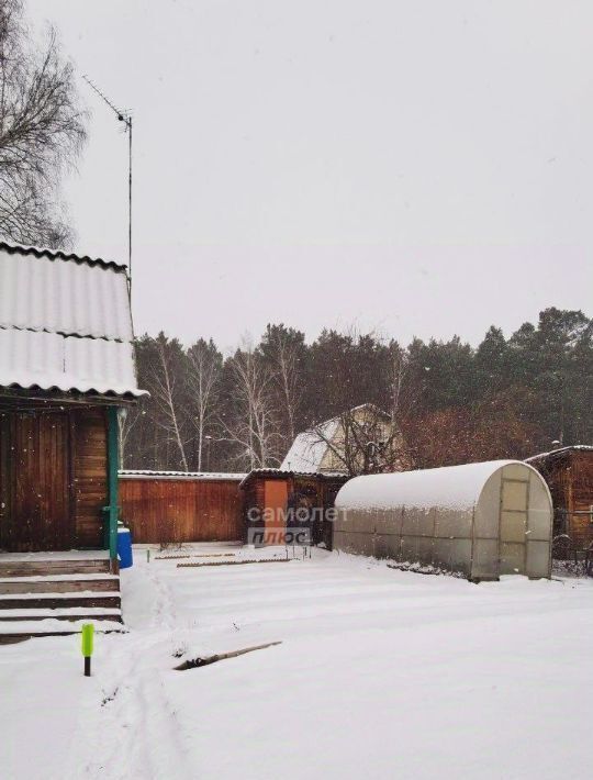
<path id="1" fill-rule="evenodd" d="M 245 541 L 249 544 L 284 544 L 287 527 L 306 526 L 311 544 L 332 546 L 334 501 L 349 479 L 343 473 L 311 473 L 282 469 L 255 469 L 240 483 L 245 493 Z M 293 522 L 294 514 L 304 519 Z"/>

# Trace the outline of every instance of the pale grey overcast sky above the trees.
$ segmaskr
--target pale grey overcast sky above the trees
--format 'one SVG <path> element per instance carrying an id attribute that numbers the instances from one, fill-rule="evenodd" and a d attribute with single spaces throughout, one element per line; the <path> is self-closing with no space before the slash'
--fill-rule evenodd
<path id="1" fill-rule="evenodd" d="M 27 0 L 133 110 L 134 316 L 477 343 L 592 311 L 589 0 Z M 125 261 L 126 138 L 81 82 L 78 249 Z"/>

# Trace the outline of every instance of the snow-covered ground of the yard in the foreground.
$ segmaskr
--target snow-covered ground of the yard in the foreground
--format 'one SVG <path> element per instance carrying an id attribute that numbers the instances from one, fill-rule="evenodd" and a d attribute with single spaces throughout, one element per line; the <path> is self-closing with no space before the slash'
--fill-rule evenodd
<path id="1" fill-rule="evenodd" d="M 213 551 L 284 555 L 191 550 Z M 130 632 L 97 636 L 92 678 L 79 637 L 0 647 L 3 780 L 591 777 L 591 580 L 135 555 Z"/>

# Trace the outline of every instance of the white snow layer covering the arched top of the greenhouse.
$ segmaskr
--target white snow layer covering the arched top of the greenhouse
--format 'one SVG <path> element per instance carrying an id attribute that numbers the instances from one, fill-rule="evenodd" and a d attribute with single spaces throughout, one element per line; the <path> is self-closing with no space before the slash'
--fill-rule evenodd
<path id="1" fill-rule="evenodd" d="M 519 460 L 488 460 L 463 466 L 398 473 L 355 477 L 339 490 L 337 509 L 394 509 L 433 506 L 471 510 L 489 477 L 503 466 L 526 464 Z M 532 468 L 527 466 L 527 468 Z"/>

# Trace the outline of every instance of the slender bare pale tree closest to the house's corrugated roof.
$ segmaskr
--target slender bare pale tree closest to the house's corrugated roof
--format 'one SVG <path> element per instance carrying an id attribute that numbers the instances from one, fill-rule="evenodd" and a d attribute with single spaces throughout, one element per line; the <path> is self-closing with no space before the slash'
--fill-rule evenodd
<path id="1" fill-rule="evenodd" d="M 175 338 L 169 341 L 165 334 L 159 333 L 154 339 L 145 381 L 152 397 L 154 422 L 166 432 L 167 439 L 175 444 L 183 470 L 189 471 L 183 436 L 184 399 L 180 388 L 183 372 L 179 364 L 183 359 L 179 342 Z"/>

